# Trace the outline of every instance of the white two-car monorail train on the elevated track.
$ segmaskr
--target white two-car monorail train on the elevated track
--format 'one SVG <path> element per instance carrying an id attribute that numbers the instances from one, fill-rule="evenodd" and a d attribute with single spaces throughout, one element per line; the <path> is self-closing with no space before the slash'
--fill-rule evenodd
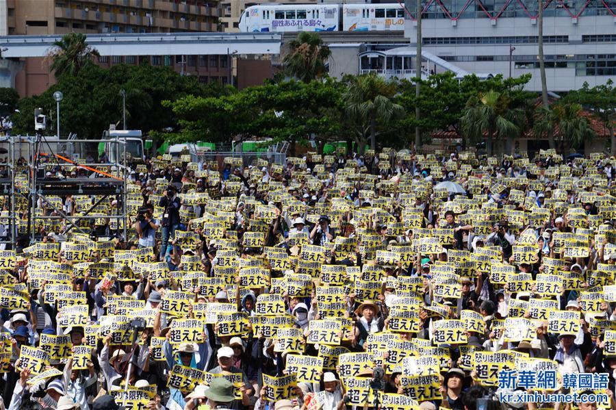
<path id="1" fill-rule="evenodd" d="M 253 5 L 240 17 L 240 31 L 402 31 L 405 11 L 393 4 Z"/>

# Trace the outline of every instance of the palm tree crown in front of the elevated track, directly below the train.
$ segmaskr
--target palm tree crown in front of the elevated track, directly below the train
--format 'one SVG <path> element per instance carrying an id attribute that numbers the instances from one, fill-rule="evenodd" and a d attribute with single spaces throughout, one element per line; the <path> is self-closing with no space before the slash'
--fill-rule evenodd
<path id="1" fill-rule="evenodd" d="M 283 57 L 287 75 L 305 83 L 326 75 L 325 61 L 331 51 L 317 33 L 303 31 L 287 42 L 287 47 L 289 51 Z"/>

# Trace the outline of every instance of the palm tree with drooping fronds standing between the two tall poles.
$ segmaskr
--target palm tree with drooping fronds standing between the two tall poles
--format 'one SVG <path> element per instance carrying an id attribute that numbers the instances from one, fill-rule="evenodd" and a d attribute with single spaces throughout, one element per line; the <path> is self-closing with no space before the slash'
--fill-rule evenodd
<path id="1" fill-rule="evenodd" d="M 510 108 L 509 95 L 489 90 L 479 97 L 471 97 L 461 118 L 462 131 L 472 140 L 481 140 L 487 133 L 486 151 L 492 155 L 493 141 L 507 138 L 506 152 L 511 152 L 513 138 L 522 132 L 524 110 Z"/>

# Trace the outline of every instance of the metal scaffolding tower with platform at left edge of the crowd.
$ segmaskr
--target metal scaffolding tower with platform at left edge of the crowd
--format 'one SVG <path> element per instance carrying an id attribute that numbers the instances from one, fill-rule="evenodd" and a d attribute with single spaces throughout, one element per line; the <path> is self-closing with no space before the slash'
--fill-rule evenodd
<path id="1" fill-rule="evenodd" d="M 51 225 L 59 225 L 60 235 L 73 229 L 89 235 L 82 224 L 97 218 L 116 220 L 117 230 L 123 231 L 123 238 L 127 238 L 126 138 L 116 136 L 112 142 L 117 160 L 96 163 L 85 158 L 92 154 L 98 156 L 96 151 L 101 140 L 69 141 L 40 135 L 0 138 L 0 202 L 3 209 L 8 209 L 0 215 L 0 244 L 10 244 L 14 249 L 18 240 L 25 238 L 33 244 L 42 240 L 40 227 Z M 74 178 L 55 175 L 57 170 L 67 168 L 76 172 L 85 170 L 85 175 Z M 88 206 L 81 214 L 70 215 L 63 209 L 67 196 L 87 198 L 79 202 Z M 103 215 L 95 212 L 110 197 L 116 199 L 117 206 Z M 49 207 L 49 214 L 44 214 L 42 204 Z M 5 237 L 2 231 L 7 232 Z"/>

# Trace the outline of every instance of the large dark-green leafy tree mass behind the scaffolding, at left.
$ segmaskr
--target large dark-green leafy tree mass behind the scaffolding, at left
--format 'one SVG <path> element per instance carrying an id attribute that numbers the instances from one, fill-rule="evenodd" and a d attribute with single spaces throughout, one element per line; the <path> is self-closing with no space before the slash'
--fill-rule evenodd
<path id="1" fill-rule="evenodd" d="M 148 133 L 177 123 L 173 112 L 163 107 L 162 101 L 175 101 L 187 94 L 218 95 L 223 89 L 218 85 L 201 86 L 194 77 L 182 77 L 166 67 L 118 64 L 107 70 L 91 64 L 77 75 L 63 75 L 42 94 L 21 99 L 20 112 L 12 116 L 13 133 L 34 133 L 32 118 L 37 107 L 48 118 L 55 118 L 52 94 L 56 90 L 64 94 L 60 107 L 61 130 L 77 133 L 79 138 L 100 138 L 110 124 L 118 127 L 122 124 L 120 90 L 127 92 L 127 127 Z"/>

